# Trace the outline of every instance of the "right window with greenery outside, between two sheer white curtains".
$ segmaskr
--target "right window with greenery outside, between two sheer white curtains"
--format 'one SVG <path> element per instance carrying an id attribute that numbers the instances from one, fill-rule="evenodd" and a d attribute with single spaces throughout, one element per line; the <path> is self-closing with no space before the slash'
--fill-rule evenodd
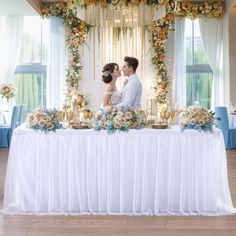
<path id="1" fill-rule="evenodd" d="M 210 109 L 213 73 L 207 61 L 198 20 L 186 20 L 187 106 L 194 101 Z"/>

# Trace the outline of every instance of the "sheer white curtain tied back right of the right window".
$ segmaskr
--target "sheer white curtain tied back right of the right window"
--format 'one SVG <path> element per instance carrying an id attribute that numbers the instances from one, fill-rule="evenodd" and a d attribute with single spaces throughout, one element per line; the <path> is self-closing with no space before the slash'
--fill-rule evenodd
<path id="1" fill-rule="evenodd" d="M 200 19 L 200 31 L 206 56 L 213 70 L 211 108 L 224 105 L 223 21 Z"/>

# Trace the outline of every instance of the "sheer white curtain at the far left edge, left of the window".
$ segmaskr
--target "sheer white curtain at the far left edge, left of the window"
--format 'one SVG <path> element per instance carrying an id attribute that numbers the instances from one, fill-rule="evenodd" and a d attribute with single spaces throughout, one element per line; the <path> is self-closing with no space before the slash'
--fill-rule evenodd
<path id="1" fill-rule="evenodd" d="M 23 16 L 0 17 L 0 85 L 13 83 L 23 35 Z M 0 99 L 0 110 L 10 110 L 13 99 Z M 7 115 L 9 122 L 10 115 Z"/>

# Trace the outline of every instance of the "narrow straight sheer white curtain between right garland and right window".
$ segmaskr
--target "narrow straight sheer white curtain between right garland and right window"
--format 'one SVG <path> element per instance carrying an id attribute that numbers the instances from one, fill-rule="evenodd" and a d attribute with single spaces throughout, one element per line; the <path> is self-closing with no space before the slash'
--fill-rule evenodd
<path id="1" fill-rule="evenodd" d="M 185 20 L 175 20 L 173 57 L 173 98 L 181 108 L 186 106 Z"/>

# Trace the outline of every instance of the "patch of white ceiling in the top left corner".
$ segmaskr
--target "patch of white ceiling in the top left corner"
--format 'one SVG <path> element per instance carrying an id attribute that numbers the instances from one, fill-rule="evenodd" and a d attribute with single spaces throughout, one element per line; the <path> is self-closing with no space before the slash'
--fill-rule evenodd
<path id="1" fill-rule="evenodd" d="M 26 0 L 0 0 L 0 16 L 35 16 L 38 13 Z"/>

